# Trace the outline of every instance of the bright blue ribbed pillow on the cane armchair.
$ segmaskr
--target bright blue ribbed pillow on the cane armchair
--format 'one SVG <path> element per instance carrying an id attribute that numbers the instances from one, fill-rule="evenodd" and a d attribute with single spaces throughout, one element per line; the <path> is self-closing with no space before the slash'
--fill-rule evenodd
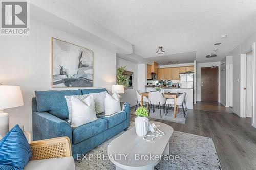
<path id="1" fill-rule="evenodd" d="M 0 140 L 0 170 L 22 170 L 29 162 L 31 148 L 22 129 L 15 125 Z"/>

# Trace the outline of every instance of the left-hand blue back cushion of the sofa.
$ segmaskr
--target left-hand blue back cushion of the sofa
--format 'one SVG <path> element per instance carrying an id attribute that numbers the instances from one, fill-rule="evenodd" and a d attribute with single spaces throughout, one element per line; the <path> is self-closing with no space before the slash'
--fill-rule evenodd
<path id="1" fill-rule="evenodd" d="M 81 90 L 63 90 L 63 91 L 35 91 L 37 110 L 39 112 L 50 112 L 52 115 L 67 119 L 69 111 L 64 96 L 82 95 Z"/>

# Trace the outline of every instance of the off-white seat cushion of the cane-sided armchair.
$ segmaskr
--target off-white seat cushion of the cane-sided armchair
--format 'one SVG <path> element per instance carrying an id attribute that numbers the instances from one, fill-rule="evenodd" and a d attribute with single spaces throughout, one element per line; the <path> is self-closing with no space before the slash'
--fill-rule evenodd
<path id="1" fill-rule="evenodd" d="M 29 161 L 24 170 L 75 170 L 75 162 L 72 156 L 52 159 Z"/>

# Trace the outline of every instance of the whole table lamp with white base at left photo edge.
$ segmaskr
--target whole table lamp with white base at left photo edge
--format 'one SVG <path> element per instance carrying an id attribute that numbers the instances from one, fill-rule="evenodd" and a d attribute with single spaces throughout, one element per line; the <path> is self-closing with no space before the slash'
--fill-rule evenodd
<path id="1" fill-rule="evenodd" d="M 20 86 L 0 85 L 0 136 L 4 137 L 9 131 L 9 114 L 4 109 L 23 106 Z"/>

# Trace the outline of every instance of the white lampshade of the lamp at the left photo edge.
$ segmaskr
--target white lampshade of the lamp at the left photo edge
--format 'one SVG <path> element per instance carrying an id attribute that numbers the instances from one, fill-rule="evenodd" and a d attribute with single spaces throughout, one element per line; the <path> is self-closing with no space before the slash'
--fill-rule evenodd
<path id="1" fill-rule="evenodd" d="M 23 106 L 20 86 L 0 85 L 0 109 Z"/>

